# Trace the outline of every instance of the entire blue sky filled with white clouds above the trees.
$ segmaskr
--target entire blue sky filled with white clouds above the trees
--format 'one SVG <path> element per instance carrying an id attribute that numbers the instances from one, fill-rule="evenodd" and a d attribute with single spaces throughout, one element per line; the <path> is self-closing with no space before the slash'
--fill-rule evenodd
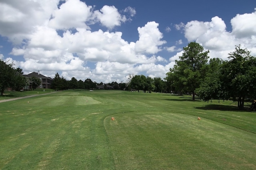
<path id="1" fill-rule="evenodd" d="M 54 78 L 166 77 L 197 42 L 227 60 L 256 55 L 255 0 L 0 0 L 0 59 Z"/>

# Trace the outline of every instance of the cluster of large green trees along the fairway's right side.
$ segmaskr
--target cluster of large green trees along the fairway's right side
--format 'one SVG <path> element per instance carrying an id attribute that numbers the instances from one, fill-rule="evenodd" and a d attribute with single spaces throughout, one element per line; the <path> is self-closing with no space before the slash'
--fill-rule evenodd
<path id="1" fill-rule="evenodd" d="M 204 101 L 228 100 L 244 108 L 245 99 L 256 98 L 256 57 L 240 45 L 228 53 L 229 60 L 210 59 L 209 51 L 191 42 L 184 53 L 166 73 L 166 84 L 179 94 L 192 93 Z"/>

